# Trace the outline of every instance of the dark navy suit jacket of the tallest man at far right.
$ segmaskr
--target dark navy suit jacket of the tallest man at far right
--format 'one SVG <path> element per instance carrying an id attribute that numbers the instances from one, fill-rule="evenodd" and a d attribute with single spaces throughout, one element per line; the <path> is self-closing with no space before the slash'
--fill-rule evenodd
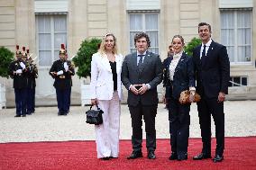
<path id="1" fill-rule="evenodd" d="M 197 76 L 197 93 L 216 98 L 219 92 L 228 94 L 230 62 L 224 45 L 212 41 L 207 56 L 200 59 L 201 45 L 193 51 Z"/>

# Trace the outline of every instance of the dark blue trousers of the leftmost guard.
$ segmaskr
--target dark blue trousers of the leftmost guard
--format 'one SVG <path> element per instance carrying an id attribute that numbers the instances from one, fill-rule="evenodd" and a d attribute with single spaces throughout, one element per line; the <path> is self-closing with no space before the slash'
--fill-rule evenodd
<path id="1" fill-rule="evenodd" d="M 15 94 L 15 105 L 16 105 L 16 115 L 26 114 L 26 88 L 14 88 Z"/>

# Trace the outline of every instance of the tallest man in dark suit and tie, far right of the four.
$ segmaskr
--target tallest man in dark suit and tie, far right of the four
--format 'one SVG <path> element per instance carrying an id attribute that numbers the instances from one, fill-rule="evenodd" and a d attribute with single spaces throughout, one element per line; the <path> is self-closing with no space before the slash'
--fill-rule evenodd
<path id="1" fill-rule="evenodd" d="M 203 141 L 202 152 L 194 160 L 211 158 L 211 114 L 215 121 L 216 148 L 214 162 L 224 159 L 224 98 L 228 93 L 230 62 L 227 50 L 211 39 L 211 25 L 198 24 L 202 45 L 193 51 L 193 62 L 197 76 L 197 93 L 202 99 L 197 111 Z"/>

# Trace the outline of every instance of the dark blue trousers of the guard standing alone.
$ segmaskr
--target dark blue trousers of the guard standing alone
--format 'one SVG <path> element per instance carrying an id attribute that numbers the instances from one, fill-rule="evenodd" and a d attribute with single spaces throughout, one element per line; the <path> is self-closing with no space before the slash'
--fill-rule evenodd
<path id="1" fill-rule="evenodd" d="M 59 113 L 68 113 L 69 109 L 69 89 L 56 88 Z"/>

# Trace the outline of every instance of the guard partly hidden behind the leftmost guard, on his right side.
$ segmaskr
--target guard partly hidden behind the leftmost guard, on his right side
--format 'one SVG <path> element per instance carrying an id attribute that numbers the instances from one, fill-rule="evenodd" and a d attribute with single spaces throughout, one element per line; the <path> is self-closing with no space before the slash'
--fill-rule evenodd
<path id="1" fill-rule="evenodd" d="M 27 65 L 28 65 L 28 86 L 27 86 L 27 114 L 34 113 L 35 105 L 35 79 L 38 77 L 38 69 L 36 64 L 33 63 L 32 55 L 30 55 L 29 49 L 27 49 Z"/>

